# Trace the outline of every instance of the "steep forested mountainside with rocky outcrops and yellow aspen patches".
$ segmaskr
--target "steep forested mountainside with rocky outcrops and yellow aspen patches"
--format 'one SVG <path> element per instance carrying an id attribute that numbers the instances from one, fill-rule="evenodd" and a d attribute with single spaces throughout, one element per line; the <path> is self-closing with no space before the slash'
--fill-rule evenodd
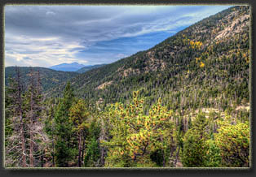
<path id="1" fill-rule="evenodd" d="M 73 78 L 77 97 L 103 104 L 129 102 L 140 90 L 146 105 L 162 97 L 169 109 L 249 103 L 249 6 L 203 19 L 149 50 Z M 59 95 L 64 84 L 52 88 Z M 228 99 L 224 99 L 228 98 Z"/>

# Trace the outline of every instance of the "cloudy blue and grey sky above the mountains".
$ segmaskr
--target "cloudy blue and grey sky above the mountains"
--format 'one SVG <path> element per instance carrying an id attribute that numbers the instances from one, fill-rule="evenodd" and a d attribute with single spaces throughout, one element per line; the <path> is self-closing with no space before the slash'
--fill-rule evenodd
<path id="1" fill-rule="evenodd" d="M 113 63 L 230 6 L 5 6 L 5 67 Z"/>

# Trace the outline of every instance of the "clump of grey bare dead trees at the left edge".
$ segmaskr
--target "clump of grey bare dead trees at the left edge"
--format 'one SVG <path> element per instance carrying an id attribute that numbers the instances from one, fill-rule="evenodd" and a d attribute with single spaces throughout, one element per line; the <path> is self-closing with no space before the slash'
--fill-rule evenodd
<path id="1" fill-rule="evenodd" d="M 43 109 L 42 97 L 32 70 L 26 92 L 19 67 L 15 68 L 15 75 L 15 79 L 10 80 L 6 88 L 6 166 L 34 167 L 38 166 L 35 159 L 40 158 L 40 152 L 43 152 L 47 142 L 42 124 L 38 122 Z M 42 143 L 39 145 L 38 142 Z"/>

